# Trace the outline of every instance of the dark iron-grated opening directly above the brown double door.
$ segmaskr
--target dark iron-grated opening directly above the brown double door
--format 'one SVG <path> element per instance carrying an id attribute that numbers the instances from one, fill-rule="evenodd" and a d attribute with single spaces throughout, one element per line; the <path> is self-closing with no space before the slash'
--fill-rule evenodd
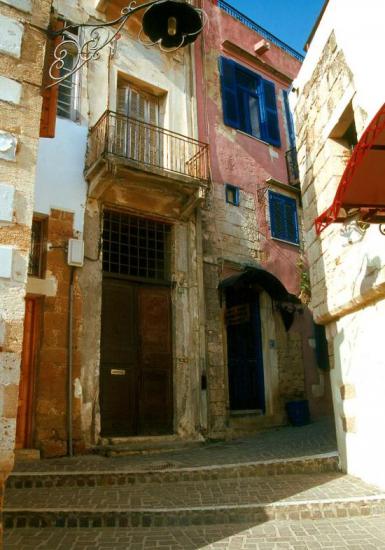
<path id="1" fill-rule="evenodd" d="M 104 212 L 103 271 L 158 281 L 170 279 L 171 227 L 162 222 Z"/>

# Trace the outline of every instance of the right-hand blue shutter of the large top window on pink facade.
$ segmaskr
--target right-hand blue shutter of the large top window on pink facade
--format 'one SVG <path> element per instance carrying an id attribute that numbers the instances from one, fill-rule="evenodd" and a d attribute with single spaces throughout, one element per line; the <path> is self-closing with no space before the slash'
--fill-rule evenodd
<path id="1" fill-rule="evenodd" d="M 260 82 L 261 137 L 263 140 L 280 147 L 278 109 L 274 82 L 261 78 Z"/>

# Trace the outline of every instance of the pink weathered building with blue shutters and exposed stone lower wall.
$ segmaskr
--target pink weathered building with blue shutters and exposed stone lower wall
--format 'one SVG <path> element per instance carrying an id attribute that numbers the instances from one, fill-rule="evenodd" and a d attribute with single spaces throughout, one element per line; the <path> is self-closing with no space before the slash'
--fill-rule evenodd
<path id="1" fill-rule="evenodd" d="M 212 170 L 202 210 L 209 431 L 223 436 L 281 424 L 293 399 L 327 415 L 330 397 L 309 312 L 292 301 L 302 222 L 286 94 L 301 56 L 226 2 L 201 6 L 210 22 L 196 51 Z"/>

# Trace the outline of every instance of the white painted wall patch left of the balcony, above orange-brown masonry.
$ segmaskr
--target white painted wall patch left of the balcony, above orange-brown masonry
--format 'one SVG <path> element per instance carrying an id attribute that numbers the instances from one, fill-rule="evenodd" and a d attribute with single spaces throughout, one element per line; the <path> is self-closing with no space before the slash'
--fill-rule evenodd
<path id="1" fill-rule="evenodd" d="M 41 138 L 36 169 L 34 211 L 74 212 L 74 229 L 83 232 L 87 183 L 83 177 L 88 128 L 57 118 L 56 136 Z"/>

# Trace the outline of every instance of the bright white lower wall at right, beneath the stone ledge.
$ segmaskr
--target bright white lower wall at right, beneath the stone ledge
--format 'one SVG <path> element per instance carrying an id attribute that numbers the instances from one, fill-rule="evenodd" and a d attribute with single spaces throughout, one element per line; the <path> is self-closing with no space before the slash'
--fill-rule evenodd
<path id="1" fill-rule="evenodd" d="M 342 317 L 333 340 L 331 371 L 336 427 L 344 469 L 385 489 L 385 300 Z M 339 388 L 352 384 L 356 397 L 342 401 Z M 341 417 L 355 418 L 356 432 L 344 433 Z"/>

